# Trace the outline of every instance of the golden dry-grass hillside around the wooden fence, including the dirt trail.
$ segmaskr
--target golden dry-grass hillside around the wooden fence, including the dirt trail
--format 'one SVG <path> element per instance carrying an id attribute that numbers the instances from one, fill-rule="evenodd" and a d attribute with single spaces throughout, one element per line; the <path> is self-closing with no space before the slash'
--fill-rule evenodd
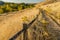
<path id="1" fill-rule="evenodd" d="M 46 40 L 60 40 L 60 2 L 40 5 L 38 7 L 36 6 L 32 9 L 25 9 L 22 11 L 13 12 L 13 14 L 9 13 L 1 15 L 0 40 L 9 40 L 13 35 L 23 29 L 23 23 L 29 24 L 34 18 L 37 17 L 39 13 L 40 16 L 37 19 L 38 21 L 35 22 L 28 30 L 29 40 L 35 40 L 34 38 L 30 38 L 33 37 L 33 32 L 36 32 L 36 34 L 34 35 L 34 37 L 37 37 L 36 40 L 39 40 L 38 38 L 40 36 L 42 40 L 45 40 L 45 38 L 43 39 L 44 35 L 46 36 L 49 34 L 51 34 L 49 36 L 51 36 L 53 39 L 50 38 Z M 47 21 L 48 24 L 46 24 L 45 21 Z M 43 26 L 41 26 L 40 22 Z M 38 24 L 40 26 L 38 26 Z M 34 30 L 34 25 L 37 29 L 39 28 L 40 31 L 42 31 L 42 29 L 40 29 L 40 27 L 42 27 L 44 29 L 42 31 L 43 33 L 39 35 L 40 31 Z M 19 36 L 17 40 L 23 40 L 23 35 Z"/>

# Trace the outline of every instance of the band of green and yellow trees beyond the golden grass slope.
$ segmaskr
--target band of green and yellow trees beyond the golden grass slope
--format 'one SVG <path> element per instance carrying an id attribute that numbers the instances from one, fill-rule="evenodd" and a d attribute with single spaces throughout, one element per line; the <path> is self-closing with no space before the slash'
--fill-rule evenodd
<path id="1" fill-rule="evenodd" d="M 25 4 L 25 3 L 4 3 L 3 5 L 0 5 L 0 14 L 6 13 L 6 12 L 13 12 L 13 11 L 19 11 L 26 8 L 32 8 L 35 4 Z"/>

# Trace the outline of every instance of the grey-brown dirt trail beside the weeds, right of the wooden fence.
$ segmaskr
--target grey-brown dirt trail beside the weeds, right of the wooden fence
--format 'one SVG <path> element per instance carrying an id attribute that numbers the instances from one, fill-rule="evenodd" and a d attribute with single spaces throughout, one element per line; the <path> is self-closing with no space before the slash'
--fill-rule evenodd
<path id="1" fill-rule="evenodd" d="M 58 25 L 49 15 L 46 16 L 45 12 L 43 13 L 43 17 L 49 22 L 46 27 L 48 32 L 54 35 L 57 40 L 60 40 L 60 25 Z"/>

